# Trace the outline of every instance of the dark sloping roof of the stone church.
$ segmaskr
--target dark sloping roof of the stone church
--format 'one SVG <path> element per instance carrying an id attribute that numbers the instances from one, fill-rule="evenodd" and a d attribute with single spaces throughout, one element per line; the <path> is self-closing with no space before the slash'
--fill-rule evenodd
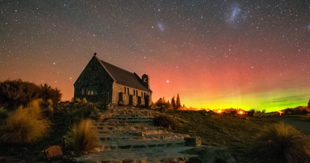
<path id="1" fill-rule="evenodd" d="M 97 57 L 96 57 L 97 58 Z M 98 59 L 98 58 L 97 58 Z M 131 73 L 127 70 L 114 66 L 113 64 L 109 64 L 103 60 L 98 59 L 101 62 L 103 67 L 106 69 L 108 74 L 113 78 L 115 82 L 118 84 L 122 84 L 125 86 L 130 86 L 139 90 L 145 90 L 148 92 L 152 92 L 147 87 L 142 84 L 141 78 L 136 73 Z"/>

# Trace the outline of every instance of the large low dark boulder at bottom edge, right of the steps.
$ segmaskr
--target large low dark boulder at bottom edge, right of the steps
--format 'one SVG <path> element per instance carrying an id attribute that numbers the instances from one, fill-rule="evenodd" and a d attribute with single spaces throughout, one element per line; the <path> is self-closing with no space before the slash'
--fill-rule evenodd
<path id="1" fill-rule="evenodd" d="M 199 158 L 190 158 L 188 163 L 199 162 L 227 162 L 236 163 L 236 159 L 223 147 L 200 146 L 191 148 L 180 153 L 197 155 Z"/>

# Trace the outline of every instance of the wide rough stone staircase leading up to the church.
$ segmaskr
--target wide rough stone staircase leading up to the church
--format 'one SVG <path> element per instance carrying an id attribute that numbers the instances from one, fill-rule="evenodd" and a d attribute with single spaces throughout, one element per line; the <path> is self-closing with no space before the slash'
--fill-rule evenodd
<path id="1" fill-rule="evenodd" d="M 86 154 L 77 162 L 100 163 L 183 163 L 191 155 L 180 154 L 193 147 L 184 145 L 185 134 L 176 134 L 153 124 L 159 112 L 150 109 L 114 106 L 107 112 L 92 112 L 98 131 L 100 152 Z"/>

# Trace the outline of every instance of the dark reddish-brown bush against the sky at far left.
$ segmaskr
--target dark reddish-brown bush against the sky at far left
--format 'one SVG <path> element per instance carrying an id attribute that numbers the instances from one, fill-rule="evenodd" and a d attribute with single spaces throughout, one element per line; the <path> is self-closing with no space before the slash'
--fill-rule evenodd
<path id="1" fill-rule="evenodd" d="M 38 86 L 20 79 L 0 82 L 0 104 L 6 108 L 14 109 L 20 105 L 25 106 L 30 101 L 40 98 L 44 101 L 52 99 L 56 104 L 60 101 L 61 96 L 60 90 L 53 89 L 47 84 Z"/>

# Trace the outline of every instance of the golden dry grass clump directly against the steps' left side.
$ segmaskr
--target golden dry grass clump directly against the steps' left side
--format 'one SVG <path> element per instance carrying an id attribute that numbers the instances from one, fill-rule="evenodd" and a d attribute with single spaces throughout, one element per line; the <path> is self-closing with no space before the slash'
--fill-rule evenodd
<path id="1" fill-rule="evenodd" d="M 82 120 L 78 125 L 73 126 L 73 145 L 79 151 L 89 152 L 97 147 L 97 133 L 91 126 L 93 126 L 91 120 Z"/>

